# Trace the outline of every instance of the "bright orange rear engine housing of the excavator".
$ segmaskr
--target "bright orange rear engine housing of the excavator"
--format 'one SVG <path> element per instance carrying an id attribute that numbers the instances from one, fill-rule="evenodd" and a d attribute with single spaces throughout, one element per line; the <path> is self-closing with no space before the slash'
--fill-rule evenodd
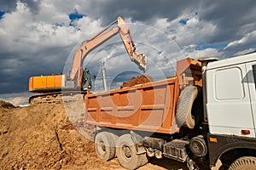
<path id="1" fill-rule="evenodd" d="M 30 77 L 29 91 L 33 93 L 61 91 L 62 77 L 62 75 Z"/>

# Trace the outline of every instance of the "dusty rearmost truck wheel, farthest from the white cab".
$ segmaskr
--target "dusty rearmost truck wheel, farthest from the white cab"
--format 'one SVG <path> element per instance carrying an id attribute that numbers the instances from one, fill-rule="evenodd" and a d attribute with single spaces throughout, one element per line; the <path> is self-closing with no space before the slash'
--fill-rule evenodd
<path id="1" fill-rule="evenodd" d="M 103 161 L 109 161 L 115 156 L 115 141 L 112 133 L 97 133 L 94 144 L 97 156 Z"/>

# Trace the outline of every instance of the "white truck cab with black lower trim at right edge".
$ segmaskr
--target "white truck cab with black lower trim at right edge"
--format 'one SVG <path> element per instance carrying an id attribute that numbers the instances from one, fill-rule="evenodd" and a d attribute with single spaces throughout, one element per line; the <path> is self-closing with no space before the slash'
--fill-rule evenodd
<path id="1" fill-rule="evenodd" d="M 210 62 L 205 74 L 210 163 L 255 157 L 256 53 Z"/>

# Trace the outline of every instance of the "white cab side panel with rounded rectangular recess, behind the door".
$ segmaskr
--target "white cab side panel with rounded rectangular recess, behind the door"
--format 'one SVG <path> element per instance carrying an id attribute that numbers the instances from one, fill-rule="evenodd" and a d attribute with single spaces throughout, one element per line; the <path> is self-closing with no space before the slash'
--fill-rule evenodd
<path id="1" fill-rule="evenodd" d="M 207 116 L 210 133 L 255 137 L 256 116 L 253 118 L 247 76 L 246 64 L 222 66 L 207 71 Z M 255 93 L 254 84 L 250 85 Z M 255 94 L 253 97 L 255 105 Z M 255 114 L 255 107 L 254 111 Z M 248 131 L 250 133 L 247 135 L 243 133 Z"/>

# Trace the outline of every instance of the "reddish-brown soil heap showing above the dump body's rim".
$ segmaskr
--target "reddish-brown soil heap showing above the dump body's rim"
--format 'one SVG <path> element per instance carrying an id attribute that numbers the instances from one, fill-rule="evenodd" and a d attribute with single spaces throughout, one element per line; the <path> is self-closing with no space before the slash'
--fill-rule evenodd
<path id="1" fill-rule="evenodd" d="M 144 84 L 147 82 L 153 82 L 152 77 L 148 77 L 146 75 L 139 75 L 137 77 L 132 77 L 129 82 L 123 82 L 123 85 L 120 88 L 132 87 L 137 84 Z"/>

